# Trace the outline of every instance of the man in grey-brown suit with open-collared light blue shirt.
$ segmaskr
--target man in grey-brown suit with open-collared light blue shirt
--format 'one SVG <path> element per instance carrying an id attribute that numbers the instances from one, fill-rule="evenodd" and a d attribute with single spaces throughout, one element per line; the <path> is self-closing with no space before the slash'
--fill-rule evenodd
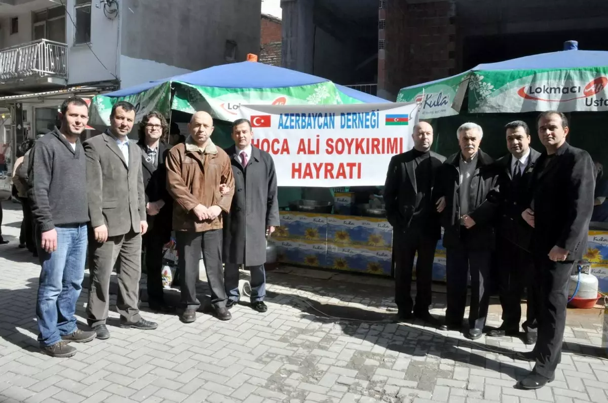
<path id="1" fill-rule="evenodd" d="M 116 308 L 123 328 L 156 329 L 137 308 L 142 275 L 142 235 L 148 229 L 142 179 L 142 153 L 128 134 L 135 108 L 128 102 L 112 106 L 110 128 L 84 143 L 89 199 L 89 271 L 91 286 L 86 307 L 89 326 L 98 339 L 108 339 L 110 276 L 114 264 L 119 282 Z"/>

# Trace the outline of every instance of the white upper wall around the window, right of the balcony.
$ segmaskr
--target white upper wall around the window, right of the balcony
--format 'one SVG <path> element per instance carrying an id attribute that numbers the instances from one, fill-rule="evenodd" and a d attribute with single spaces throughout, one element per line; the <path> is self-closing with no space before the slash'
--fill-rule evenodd
<path id="1" fill-rule="evenodd" d="M 103 15 L 103 6 L 95 7 L 97 1 L 92 1 L 91 7 L 91 49 L 102 63 L 95 58 L 86 44 L 74 45 L 74 30 L 69 16 L 66 16 L 66 40 L 69 48 L 68 84 L 89 83 L 94 81 L 116 80 L 120 78 L 119 58 L 119 25 L 123 13 L 128 10 L 120 9 L 120 15 L 108 19 Z M 67 11 L 75 21 L 74 0 L 67 0 Z M 116 76 L 116 77 L 114 77 Z"/>

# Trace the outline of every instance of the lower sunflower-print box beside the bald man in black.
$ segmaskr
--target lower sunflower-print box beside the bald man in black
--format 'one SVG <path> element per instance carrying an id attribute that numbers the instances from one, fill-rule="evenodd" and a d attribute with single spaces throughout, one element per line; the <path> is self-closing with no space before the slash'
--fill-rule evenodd
<path id="1" fill-rule="evenodd" d="M 326 267 L 390 276 L 390 248 L 327 243 Z"/>

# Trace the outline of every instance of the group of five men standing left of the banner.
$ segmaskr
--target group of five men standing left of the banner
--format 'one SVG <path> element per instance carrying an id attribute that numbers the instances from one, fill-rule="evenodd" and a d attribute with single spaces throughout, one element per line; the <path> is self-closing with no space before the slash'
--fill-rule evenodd
<path id="1" fill-rule="evenodd" d="M 173 312 L 162 287 L 163 246 L 176 232 L 182 322 L 196 320 L 196 282 L 204 261 L 213 312 L 231 318 L 238 302 L 239 266 L 251 270 L 252 308 L 265 312 L 264 239 L 278 225 L 277 182 L 271 157 L 251 145 L 248 120 L 233 124 L 226 151 L 210 139 L 213 119 L 196 112 L 185 142 L 169 148 L 168 124 L 146 114 L 139 141 L 128 138 L 136 110 L 112 107 L 105 133 L 80 142 L 88 106 L 69 98 L 59 128 L 36 140 L 29 162 L 29 196 L 41 263 L 36 316 L 44 353 L 70 357 L 70 342 L 108 339 L 109 286 L 116 269 L 120 326 L 151 330 L 139 311 L 142 247 L 153 311 Z M 235 179 L 236 178 L 236 179 Z M 77 327 L 75 308 L 89 261 L 86 307 L 91 331 Z M 226 262 L 226 270 L 223 269 Z"/>

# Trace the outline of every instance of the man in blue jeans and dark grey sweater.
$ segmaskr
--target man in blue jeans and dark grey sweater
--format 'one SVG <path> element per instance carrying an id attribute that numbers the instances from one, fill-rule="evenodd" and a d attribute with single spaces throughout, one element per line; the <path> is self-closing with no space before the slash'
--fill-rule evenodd
<path id="1" fill-rule="evenodd" d="M 69 342 L 86 343 L 95 332 L 76 327 L 76 301 L 85 277 L 87 222 L 85 150 L 80 134 L 89 110 L 82 98 L 61 105 L 61 128 L 36 141 L 30 153 L 29 196 L 42 270 L 36 317 L 43 353 L 71 357 Z"/>

